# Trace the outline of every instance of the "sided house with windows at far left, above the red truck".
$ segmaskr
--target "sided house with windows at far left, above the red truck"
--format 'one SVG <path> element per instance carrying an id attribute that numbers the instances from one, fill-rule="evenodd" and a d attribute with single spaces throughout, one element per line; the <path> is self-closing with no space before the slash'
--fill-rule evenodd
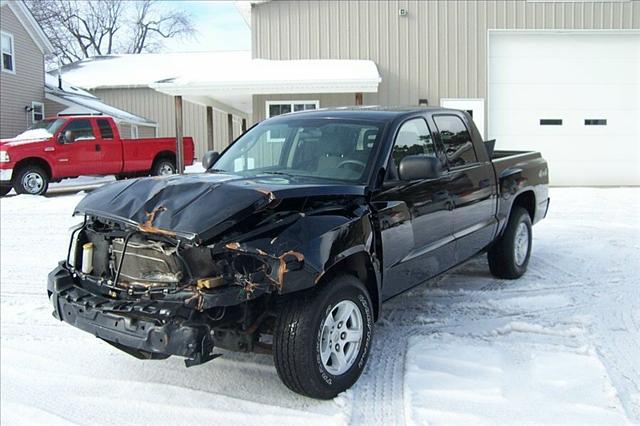
<path id="1" fill-rule="evenodd" d="M 9 138 L 46 113 L 44 56 L 53 47 L 22 2 L 0 3 L 0 35 L 0 138 Z"/>

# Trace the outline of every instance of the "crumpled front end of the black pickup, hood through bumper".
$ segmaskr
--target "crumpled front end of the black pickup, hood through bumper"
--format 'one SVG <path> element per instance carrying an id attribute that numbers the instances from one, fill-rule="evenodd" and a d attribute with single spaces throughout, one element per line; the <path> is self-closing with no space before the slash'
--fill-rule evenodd
<path id="1" fill-rule="evenodd" d="M 312 287 L 354 243 L 372 250 L 357 186 L 149 178 L 96 190 L 75 213 L 84 221 L 49 275 L 54 316 L 138 358 L 187 366 L 216 347 L 270 352 L 282 297 Z"/>

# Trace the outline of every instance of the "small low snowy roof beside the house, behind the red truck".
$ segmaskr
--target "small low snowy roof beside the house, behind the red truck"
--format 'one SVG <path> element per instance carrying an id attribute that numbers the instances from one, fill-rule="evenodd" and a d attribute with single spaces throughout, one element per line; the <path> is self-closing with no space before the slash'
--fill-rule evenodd
<path id="1" fill-rule="evenodd" d="M 61 83 L 62 88 L 60 88 L 60 82 L 56 75 L 45 74 L 45 96 L 47 99 L 67 106 L 60 114 L 105 114 L 113 117 L 116 121 L 141 126 L 156 126 L 156 123 L 148 118 L 107 105 L 86 90 L 72 86 L 64 80 Z"/>

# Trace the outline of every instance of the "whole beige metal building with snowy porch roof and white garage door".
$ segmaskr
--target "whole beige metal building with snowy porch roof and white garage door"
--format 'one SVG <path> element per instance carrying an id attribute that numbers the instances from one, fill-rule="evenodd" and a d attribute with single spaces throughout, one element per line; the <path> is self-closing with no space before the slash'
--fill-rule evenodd
<path id="1" fill-rule="evenodd" d="M 224 149 L 245 120 L 428 105 L 468 111 L 499 149 L 542 151 L 553 184 L 640 185 L 640 1 L 238 7 L 251 52 L 115 55 L 67 66 L 64 76 L 156 121 L 159 136 L 174 134 L 175 102 L 184 99 L 184 134 L 198 157 Z M 620 149 L 599 154 L 603 139 Z"/>

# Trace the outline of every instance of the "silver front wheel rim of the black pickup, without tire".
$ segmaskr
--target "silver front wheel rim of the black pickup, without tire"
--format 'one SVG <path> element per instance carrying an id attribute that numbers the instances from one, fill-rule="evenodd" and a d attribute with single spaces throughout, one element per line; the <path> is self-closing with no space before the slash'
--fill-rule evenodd
<path id="1" fill-rule="evenodd" d="M 331 309 L 320 332 L 320 358 L 327 372 L 339 376 L 351 368 L 360 352 L 363 330 L 362 313 L 352 301 L 343 300 Z"/>

